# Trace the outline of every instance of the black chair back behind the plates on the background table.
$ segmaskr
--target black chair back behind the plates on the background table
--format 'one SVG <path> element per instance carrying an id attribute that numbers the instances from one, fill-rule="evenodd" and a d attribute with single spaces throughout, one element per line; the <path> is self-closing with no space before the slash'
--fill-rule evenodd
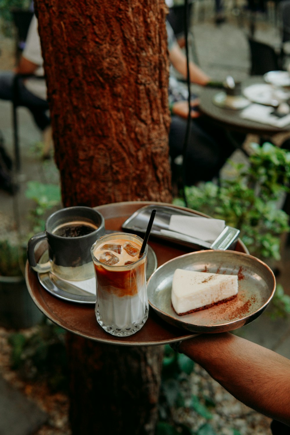
<path id="1" fill-rule="evenodd" d="M 250 75 L 263 75 L 268 71 L 282 70 L 283 53 L 274 47 L 248 37 L 250 47 Z"/>

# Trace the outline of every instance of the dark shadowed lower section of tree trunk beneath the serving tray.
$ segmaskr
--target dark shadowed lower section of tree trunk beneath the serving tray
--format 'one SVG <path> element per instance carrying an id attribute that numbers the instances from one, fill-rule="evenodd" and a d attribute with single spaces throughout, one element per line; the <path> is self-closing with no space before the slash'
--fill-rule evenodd
<path id="1" fill-rule="evenodd" d="M 70 334 L 67 349 L 73 434 L 154 434 L 162 347 L 96 345 Z"/>

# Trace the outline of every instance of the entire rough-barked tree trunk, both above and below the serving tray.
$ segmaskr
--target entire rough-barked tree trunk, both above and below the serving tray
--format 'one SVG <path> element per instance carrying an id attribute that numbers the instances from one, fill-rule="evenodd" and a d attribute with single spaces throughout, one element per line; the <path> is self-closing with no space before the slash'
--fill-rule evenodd
<path id="1" fill-rule="evenodd" d="M 171 201 L 163 0 L 37 0 L 63 204 Z M 162 348 L 68 335 L 73 435 L 153 434 Z"/>

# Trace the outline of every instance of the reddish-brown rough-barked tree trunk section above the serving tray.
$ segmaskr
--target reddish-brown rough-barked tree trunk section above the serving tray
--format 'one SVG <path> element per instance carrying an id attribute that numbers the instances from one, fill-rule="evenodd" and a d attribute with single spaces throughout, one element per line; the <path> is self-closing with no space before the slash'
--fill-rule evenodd
<path id="1" fill-rule="evenodd" d="M 37 2 L 66 206 L 170 197 L 163 0 Z"/>

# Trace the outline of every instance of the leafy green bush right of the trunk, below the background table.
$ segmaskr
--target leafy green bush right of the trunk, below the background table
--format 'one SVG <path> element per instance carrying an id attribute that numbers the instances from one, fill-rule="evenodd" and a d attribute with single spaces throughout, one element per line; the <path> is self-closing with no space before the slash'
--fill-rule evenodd
<path id="1" fill-rule="evenodd" d="M 249 165 L 234 164 L 234 179 L 186 187 L 188 206 L 240 229 L 250 253 L 280 258 L 280 234 L 289 231 L 288 215 L 277 201 L 289 191 L 290 152 L 265 143 L 253 144 Z"/>

